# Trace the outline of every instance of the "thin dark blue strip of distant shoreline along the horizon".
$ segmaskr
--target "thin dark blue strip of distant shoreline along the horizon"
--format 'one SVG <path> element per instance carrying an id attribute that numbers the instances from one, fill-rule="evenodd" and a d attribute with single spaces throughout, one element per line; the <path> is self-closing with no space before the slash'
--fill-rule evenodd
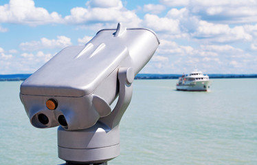
<path id="1" fill-rule="evenodd" d="M 31 74 L 0 74 L 0 81 L 23 81 Z M 137 74 L 135 80 L 177 79 L 182 74 Z M 257 74 L 208 74 L 210 78 L 257 78 Z"/>

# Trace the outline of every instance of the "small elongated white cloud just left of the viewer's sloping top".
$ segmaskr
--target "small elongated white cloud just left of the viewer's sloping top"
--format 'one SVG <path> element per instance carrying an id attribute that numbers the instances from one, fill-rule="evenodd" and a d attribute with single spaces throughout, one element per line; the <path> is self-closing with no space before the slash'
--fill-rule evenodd
<path id="1" fill-rule="evenodd" d="M 63 48 L 68 45 L 71 45 L 71 39 L 67 36 L 57 36 L 56 39 L 46 39 L 42 38 L 40 41 L 31 41 L 21 43 L 19 46 L 23 51 L 33 51 L 41 49 L 54 49 L 54 48 Z"/>

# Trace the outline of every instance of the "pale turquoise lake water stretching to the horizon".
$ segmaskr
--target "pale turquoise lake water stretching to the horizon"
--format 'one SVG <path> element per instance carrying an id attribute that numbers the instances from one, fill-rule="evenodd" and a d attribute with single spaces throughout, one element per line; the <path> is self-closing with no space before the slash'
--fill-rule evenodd
<path id="1" fill-rule="evenodd" d="M 121 164 L 257 164 L 257 78 L 213 79 L 210 92 L 177 80 L 135 80 L 120 123 Z M 21 82 L 0 82 L 0 164 L 62 164 L 57 131 L 36 129 Z"/>

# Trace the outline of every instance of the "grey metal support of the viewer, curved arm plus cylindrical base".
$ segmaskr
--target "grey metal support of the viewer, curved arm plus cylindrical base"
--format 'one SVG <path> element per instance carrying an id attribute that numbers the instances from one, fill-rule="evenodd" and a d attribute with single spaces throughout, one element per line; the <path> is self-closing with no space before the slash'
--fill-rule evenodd
<path id="1" fill-rule="evenodd" d="M 133 69 L 118 71 L 119 99 L 106 118 L 102 118 L 89 129 L 67 131 L 58 128 L 58 156 L 66 161 L 107 162 L 120 155 L 119 124 L 131 102 Z"/>

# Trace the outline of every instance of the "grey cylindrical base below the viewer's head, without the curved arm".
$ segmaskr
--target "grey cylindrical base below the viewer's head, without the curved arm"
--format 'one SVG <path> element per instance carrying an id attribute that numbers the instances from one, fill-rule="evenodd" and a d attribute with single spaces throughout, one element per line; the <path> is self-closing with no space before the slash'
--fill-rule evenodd
<path id="1" fill-rule="evenodd" d="M 97 122 L 89 129 L 58 127 L 58 157 L 71 164 L 99 164 L 120 155 L 120 129 Z"/>

